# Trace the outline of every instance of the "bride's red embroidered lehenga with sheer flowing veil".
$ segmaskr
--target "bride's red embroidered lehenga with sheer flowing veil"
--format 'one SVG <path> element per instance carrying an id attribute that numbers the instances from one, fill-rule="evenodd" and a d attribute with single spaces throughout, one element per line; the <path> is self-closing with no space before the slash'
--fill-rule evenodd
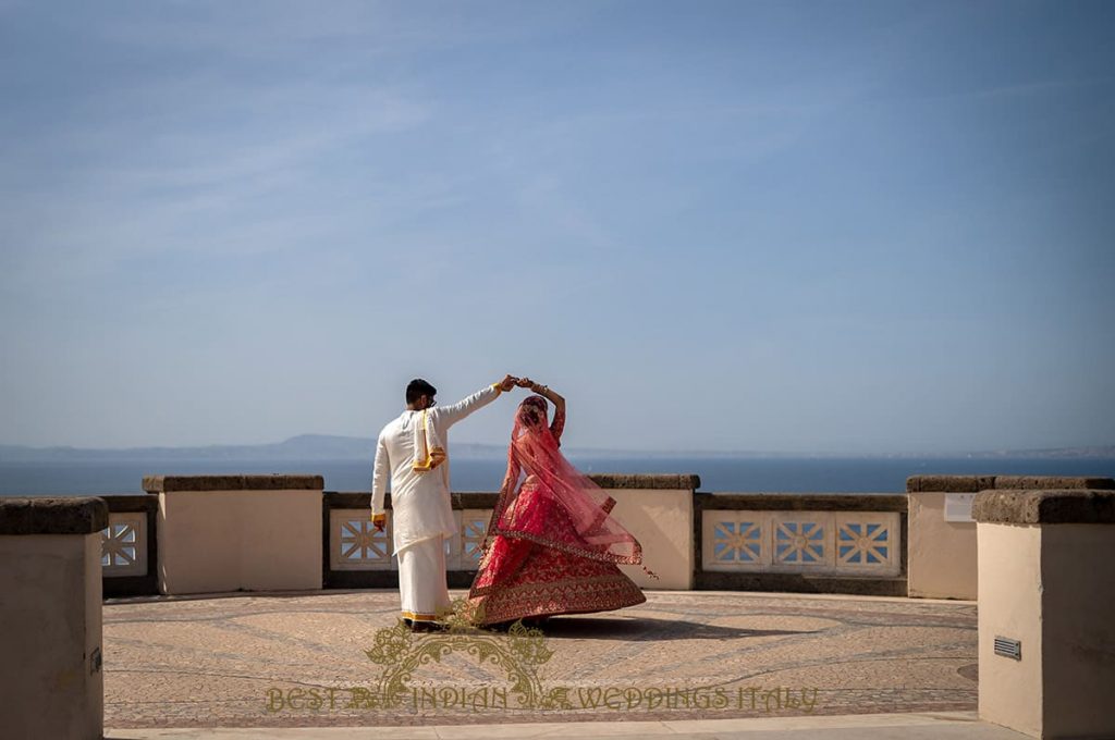
<path id="1" fill-rule="evenodd" d="M 525 399 L 515 415 L 507 474 L 468 594 L 477 624 L 647 601 L 617 566 L 641 564 L 642 548 L 610 516 L 615 500 L 558 449 L 564 413 L 556 410 L 549 427 L 545 421 L 540 396 Z"/>

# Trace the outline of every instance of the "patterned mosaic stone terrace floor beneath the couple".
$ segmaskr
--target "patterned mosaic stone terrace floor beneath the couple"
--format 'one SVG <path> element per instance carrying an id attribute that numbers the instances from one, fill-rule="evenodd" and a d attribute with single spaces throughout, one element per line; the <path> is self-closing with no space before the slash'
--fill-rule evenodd
<path id="1" fill-rule="evenodd" d="M 533 637 L 395 631 L 394 591 L 108 600 L 105 726 L 411 726 L 976 710 L 972 602 L 647 595 L 647 603 L 619 612 L 555 617 Z M 395 703 L 387 701 L 391 695 Z"/>

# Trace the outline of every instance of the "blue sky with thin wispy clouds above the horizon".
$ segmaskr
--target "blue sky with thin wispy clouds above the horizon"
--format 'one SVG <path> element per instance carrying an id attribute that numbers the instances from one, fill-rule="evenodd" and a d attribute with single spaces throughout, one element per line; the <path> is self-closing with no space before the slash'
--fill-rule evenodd
<path id="1" fill-rule="evenodd" d="M 0 444 L 372 437 L 506 372 L 575 447 L 1115 445 L 1113 29 L 0 0 Z"/>

